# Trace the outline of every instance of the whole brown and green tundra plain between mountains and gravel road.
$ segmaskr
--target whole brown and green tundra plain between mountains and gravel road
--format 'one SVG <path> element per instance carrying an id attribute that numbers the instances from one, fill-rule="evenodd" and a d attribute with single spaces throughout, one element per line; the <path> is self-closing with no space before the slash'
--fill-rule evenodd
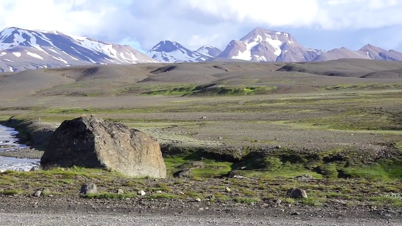
<path id="1" fill-rule="evenodd" d="M 6 171 L 0 200 L 14 212 L 51 212 L 53 206 L 126 213 L 135 206 L 137 213 L 227 210 L 288 218 L 298 212 L 291 217 L 400 222 L 401 71 L 402 62 L 341 59 L 0 74 L 2 124 L 15 127 L 33 147 L 2 155 L 40 158 L 49 131 L 66 119 L 92 114 L 157 138 L 169 175 L 155 180 L 85 168 Z M 173 177 L 186 168 L 186 175 Z M 95 183 L 98 193 L 79 196 L 87 182 Z M 308 198 L 286 197 L 292 187 L 306 190 Z M 49 192 L 31 197 L 43 188 Z M 146 195 L 138 195 L 140 190 Z"/>

